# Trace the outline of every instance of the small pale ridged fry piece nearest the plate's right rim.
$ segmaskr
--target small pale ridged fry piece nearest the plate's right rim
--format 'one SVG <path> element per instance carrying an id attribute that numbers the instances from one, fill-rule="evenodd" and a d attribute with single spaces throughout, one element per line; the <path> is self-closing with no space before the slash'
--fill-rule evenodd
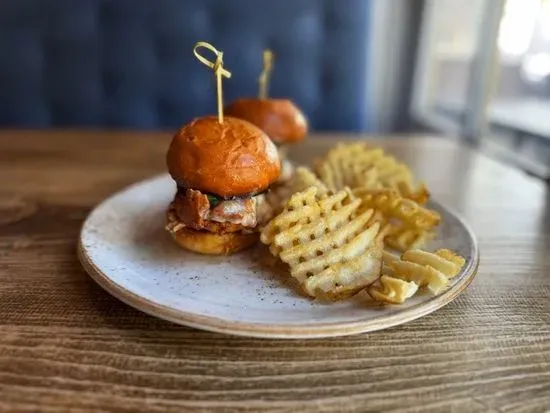
<path id="1" fill-rule="evenodd" d="M 433 294 L 439 294 L 449 284 L 449 278 L 456 276 L 465 260 L 454 252 L 439 249 L 434 253 L 410 250 L 401 259 L 384 252 L 384 265 L 393 269 L 393 276 L 405 281 L 413 281 L 427 287 Z"/>

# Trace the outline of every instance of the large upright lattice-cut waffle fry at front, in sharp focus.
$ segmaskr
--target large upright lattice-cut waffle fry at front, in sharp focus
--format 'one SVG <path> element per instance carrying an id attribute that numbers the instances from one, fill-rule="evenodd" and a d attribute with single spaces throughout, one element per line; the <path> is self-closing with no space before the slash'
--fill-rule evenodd
<path id="1" fill-rule="evenodd" d="M 311 187 L 294 194 L 283 212 L 262 231 L 272 254 L 312 297 L 349 297 L 380 276 L 380 223 L 373 210 L 357 215 L 361 200 L 350 191 L 319 194 Z"/>

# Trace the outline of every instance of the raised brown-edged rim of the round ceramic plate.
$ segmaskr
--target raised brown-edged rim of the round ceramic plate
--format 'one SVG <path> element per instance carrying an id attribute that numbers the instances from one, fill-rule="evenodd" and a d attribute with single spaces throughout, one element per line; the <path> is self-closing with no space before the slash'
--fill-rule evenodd
<path id="1" fill-rule="evenodd" d="M 125 189 L 123 189 L 122 191 L 124 191 Z M 88 218 L 97 208 L 101 207 L 101 205 L 108 202 L 112 197 L 116 196 L 117 194 L 118 192 L 96 206 L 96 208 L 94 208 L 90 212 Z M 143 311 L 144 313 L 147 313 L 154 317 L 171 321 L 176 324 L 216 333 L 256 338 L 305 339 L 349 336 L 398 326 L 430 314 L 453 301 L 468 287 L 468 285 L 470 285 L 470 283 L 475 278 L 479 266 L 479 248 L 473 231 L 462 219 L 462 217 L 460 217 L 453 210 L 435 201 L 431 202 L 437 204 L 441 209 L 444 209 L 449 214 L 453 215 L 456 220 L 459 221 L 460 224 L 466 229 L 466 232 L 470 238 L 472 259 L 468 262 L 467 267 L 462 270 L 463 274 L 461 275 L 460 280 L 457 281 L 445 292 L 436 297 L 433 297 L 427 302 L 422 302 L 402 311 L 399 311 L 398 313 L 377 317 L 375 319 L 315 325 L 278 325 L 262 323 L 242 323 L 218 317 L 210 317 L 192 312 L 175 310 L 171 307 L 155 303 L 147 298 L 133 293 L 132 291 L 124 288 L 120 284 L 114 282 L 109 277 L 109 275 L 101 271 L 92 262 L 86 252 L 86 249 L 82 245 L 82 230 L 79 236 L 77 255 L 80 263 L 82 264 L 84 270 L 88 273 L 88 275 L 109 294 L 128 304 L 129 306 L 136 308 L 137 310 Z M 85 220 L 82 229 L 84 229 L 87 219 Z"/>

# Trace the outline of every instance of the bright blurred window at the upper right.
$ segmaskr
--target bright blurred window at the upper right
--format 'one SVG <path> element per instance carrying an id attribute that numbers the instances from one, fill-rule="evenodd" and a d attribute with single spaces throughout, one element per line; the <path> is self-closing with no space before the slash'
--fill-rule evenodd
<path id="1" fill-rule="evenodd" d="M 549 176 L 550 0 L 427 0 L 411 112 Z"/>

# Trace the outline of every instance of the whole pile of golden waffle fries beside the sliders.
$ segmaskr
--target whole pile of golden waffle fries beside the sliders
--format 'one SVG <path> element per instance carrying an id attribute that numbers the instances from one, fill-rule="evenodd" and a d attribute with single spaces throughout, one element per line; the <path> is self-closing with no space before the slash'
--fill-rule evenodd
<path id="1" fill-rule="evenodd" d="M 340 144 L 269 197 L 276 216 L 261 241 L 310 297 L 366 291 L 401 304 L 419 290 L 441 293 L 464 266 L 450 250 L 422 249 L 441 223 L 429 197 L 409 167 L 382 149 Z"/>

